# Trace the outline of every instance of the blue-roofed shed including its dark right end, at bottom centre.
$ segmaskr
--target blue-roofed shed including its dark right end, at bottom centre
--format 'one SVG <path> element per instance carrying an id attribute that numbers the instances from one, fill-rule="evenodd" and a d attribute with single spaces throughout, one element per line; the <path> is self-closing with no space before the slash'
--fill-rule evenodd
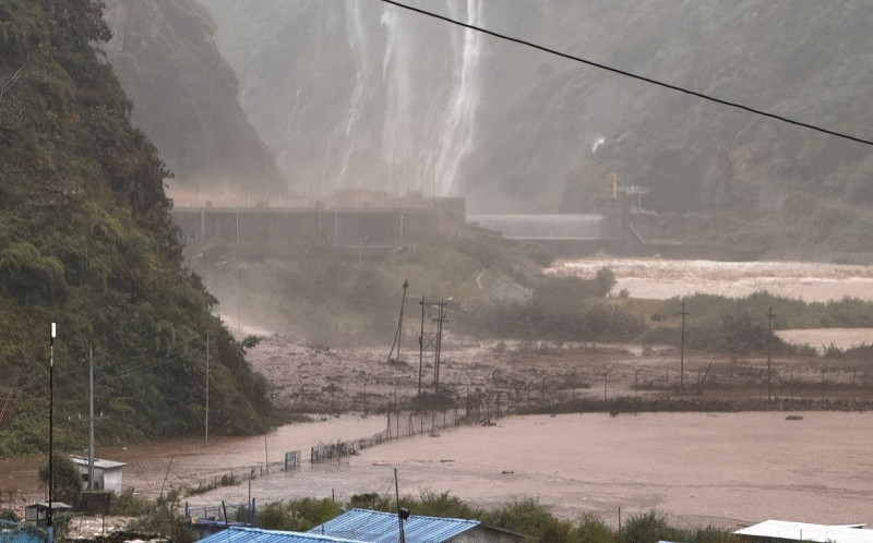
<path id="1" fill-rule="evenodd" d="M 527 539 L 521 533 L 467 519 L 410 515 L 403 527 L 406 543 L 521 543 Z M 363 543 L 396 543 L 400 530 L 396 514 L 351 509 L 316 526 L 309 533 Z"/>

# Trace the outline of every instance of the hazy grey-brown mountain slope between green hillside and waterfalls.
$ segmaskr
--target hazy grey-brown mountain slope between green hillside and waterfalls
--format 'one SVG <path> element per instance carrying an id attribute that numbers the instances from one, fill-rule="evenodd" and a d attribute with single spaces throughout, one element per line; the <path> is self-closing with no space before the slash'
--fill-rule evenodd
<path id="1" fill-rule="evenodd" d="M 237 102 L 236 76 L 203 9 L 192 0 L 109 0 L 105 19 L 112 38 L 103 49 L 133 101 L 133 124 L 177 182 L 260 190 L 267 149 Z M 284 182 L 274 181 L 277 189 Z"/>

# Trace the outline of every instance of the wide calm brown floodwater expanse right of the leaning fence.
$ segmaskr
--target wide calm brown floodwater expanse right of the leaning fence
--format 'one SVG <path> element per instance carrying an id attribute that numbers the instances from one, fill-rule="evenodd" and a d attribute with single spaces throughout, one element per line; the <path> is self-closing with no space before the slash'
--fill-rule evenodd
<path id="1" fill-rule="evenodd" d="M 761 520 L 866 522 L 873 500 L 868 413 L 647 413 L 519 417 L 438 437 L 392 442 L 348 466 L 304 464 L 258 480 L 262 503 L 292 496 L 450 492 L 492 507 L 533 497 L 565 518 L 615 523 L 658 509 L 680 522 L 733 527 Z M 203 497 L 244 503 L 248 487 Z M 415 511 L 414 511 L 415 512 Z"/>

